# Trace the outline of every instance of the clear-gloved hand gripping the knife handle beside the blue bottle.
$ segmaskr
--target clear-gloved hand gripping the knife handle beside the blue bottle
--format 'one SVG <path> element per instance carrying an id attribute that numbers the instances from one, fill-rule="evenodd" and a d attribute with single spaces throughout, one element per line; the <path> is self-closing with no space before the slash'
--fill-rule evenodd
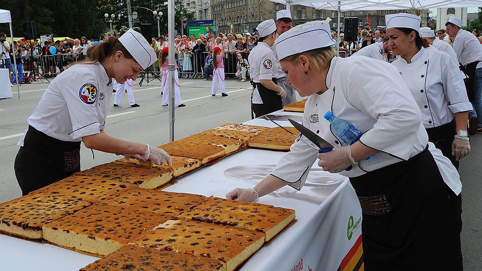
<path id="1" fill-rule="evenodd" d="M 350 146 L 336 146 L 330 152 L 318 153 L 318 159 L 318 165 L 331 173 L 338 173 L 355 164 Z"/>

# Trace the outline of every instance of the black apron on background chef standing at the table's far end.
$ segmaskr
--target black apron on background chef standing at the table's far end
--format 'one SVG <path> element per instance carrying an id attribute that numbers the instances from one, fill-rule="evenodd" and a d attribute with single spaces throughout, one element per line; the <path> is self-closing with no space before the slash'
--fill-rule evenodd
<path id="1" fill-rule="evenodd" d="M 274 84 L 276 84 L 276 78 L 271 79 Z M 258 89 L 259 96 L 263 101 L 262 104 L 252 104 L 252 94 L 251 94 L 251 107 L 253 109 L 256 118 L 273 113 L 275 111 L 281 110 L 283 108 L 281 104 L 281 96 L 279 96 L 275 91 L 272 91 L 261 83 L 254 83 L 255 87 Z M 254 91 L 253 86 L 253 91 Z"/>

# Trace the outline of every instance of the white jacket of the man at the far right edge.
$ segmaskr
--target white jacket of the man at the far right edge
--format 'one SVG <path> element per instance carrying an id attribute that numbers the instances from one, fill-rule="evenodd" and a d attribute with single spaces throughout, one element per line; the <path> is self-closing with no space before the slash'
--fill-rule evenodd
<path id="1" fill-rule="evenodd" d="M 466 66 L 472 62 L 482 61 L 481 42 L 471 32 L 460 29 L 452 46 L 462 65 Z M 477 64 L 476 68 L 482 68 L 482 62 Z"/>

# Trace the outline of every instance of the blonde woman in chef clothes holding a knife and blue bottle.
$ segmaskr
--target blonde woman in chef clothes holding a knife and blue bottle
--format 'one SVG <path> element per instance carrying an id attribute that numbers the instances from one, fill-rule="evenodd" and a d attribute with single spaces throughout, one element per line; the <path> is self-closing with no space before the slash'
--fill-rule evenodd
<path id="1" fill-rule="evenodd" d="M 461 192 L 457 170 L 428 141 L 397 69 L 364 56 L 336 57 L 334 44 L 329 24 L 320 21 L 296 26 L 275 42 L 287 84 L 310 97 L 303 126 L 333 150 L 319 154 L 302 136 L 269 176 L 226 197 L 256 201 L 286 184 L 301 189 L 318 158 L 323 170 L 348 176 L 355 188 L 365 270 L 458 270 L 457 214 L 449 199 Z M 360 139 L 342 143 L 323 118 L 328 111 L 353 124 Z"/>

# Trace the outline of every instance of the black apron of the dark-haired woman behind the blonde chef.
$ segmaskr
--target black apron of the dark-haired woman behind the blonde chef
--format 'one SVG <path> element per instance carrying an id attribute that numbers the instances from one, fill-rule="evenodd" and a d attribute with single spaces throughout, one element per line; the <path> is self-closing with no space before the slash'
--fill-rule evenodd
<path id="1" fill-rule="evenodd" d="M 459 170 L 459 161 L 452 155 L 452 142 L 455 136 L 455 119 L 450 123 L 426 129 L 428 140 L 435 144 L 435 147 L 442 151 L 445 157 L 449 158 L 452 164 Z"/>

